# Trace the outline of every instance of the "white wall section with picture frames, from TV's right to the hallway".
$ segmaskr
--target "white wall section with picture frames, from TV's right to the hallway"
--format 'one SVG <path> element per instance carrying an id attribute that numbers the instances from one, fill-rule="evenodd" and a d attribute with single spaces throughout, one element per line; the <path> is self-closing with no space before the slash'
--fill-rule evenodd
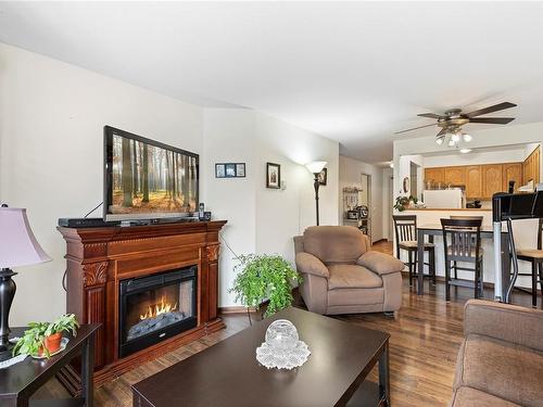
<path id="1" fill-rule="evenodd" d="M 236 254 L 277 253 L 294 260 L 292 238 L 315 225 L 313 175 L 304 164 L 327 161 L 328 182 L 319 190 L 320 225 L 338 225 L 338 142 L 249 110 L 205 110 L 205 171 L 216 162 L 247 163 L 247 178 L 206 177 L 204 196 L 214 216 L 228 219 L 223 237 Z M 266 163 L 281 166 L 286 189 L 266 188 Z M 223 245 L 219 302 L 228 293 L 237 262 Z"/>

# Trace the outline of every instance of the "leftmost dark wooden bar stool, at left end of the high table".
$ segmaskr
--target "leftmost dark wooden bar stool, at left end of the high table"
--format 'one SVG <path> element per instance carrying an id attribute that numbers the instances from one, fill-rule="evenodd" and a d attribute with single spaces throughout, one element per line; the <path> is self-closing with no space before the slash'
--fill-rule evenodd
<path id="1" fill-rule="evenodd" d="M 407 252 L 407 263 L 405 264 L 409 268 L 409 287 L 413 285 L 413 279 L 418 276 L 415 271 L 417 270 L 417 255 L 418 255 L 418 243 L 417 243 L 417 216 L 416 215 L 392 215 L 394 220 L 394 229 L 396 233 L 396 257 L 400 258 L 400 250 Z M 428 263 L 425 263 L 422 258 L 422 269 L 424 265 L 428 266 L 428 275 L 425 277 L 430 277 L 431 281 L 435 284 L 435 247 L 433 243 L 425 242 L 425 252 L 428 252 Z M 424 271 L 422 271 L 424 274 Z"/>

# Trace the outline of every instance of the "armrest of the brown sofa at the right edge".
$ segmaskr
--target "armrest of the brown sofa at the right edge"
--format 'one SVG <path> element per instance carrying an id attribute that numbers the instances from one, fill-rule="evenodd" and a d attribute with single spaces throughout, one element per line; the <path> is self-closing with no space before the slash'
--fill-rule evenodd
<path id="1" fill-rule="evenodd" d="M 470 333 L 543 351 L 543 311 L 469 300 L 464 307 L 464 335 Z"/>

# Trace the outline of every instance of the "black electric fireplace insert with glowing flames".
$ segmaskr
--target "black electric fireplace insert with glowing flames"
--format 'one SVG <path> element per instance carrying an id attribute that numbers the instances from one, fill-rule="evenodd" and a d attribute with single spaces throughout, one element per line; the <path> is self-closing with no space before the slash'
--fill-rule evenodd
<path id="1" fill-rule="evenodd" d="M 197 326 L 197 274 L 190 266 L 121 281 L 119 357 Z"/>

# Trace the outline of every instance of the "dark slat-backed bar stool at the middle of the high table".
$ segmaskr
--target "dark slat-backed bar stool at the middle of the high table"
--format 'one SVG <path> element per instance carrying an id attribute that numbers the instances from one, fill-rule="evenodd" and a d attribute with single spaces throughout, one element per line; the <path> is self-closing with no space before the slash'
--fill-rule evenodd
<path id="1" fill-rule="evenodd" d="M 475 289 L 475 297 L 483 295 L 481 249 L 481 224 L 479 219 L 441 219 L 443 230 L 443 250 L 445 252 L 445 300 L 451 301 L 451 285 L 470 287 Z M 456 270 L 473 271 L 473 282 L 451 279 L 451 262 L 472 263 L 473 268 L 455 266 Z"/>

